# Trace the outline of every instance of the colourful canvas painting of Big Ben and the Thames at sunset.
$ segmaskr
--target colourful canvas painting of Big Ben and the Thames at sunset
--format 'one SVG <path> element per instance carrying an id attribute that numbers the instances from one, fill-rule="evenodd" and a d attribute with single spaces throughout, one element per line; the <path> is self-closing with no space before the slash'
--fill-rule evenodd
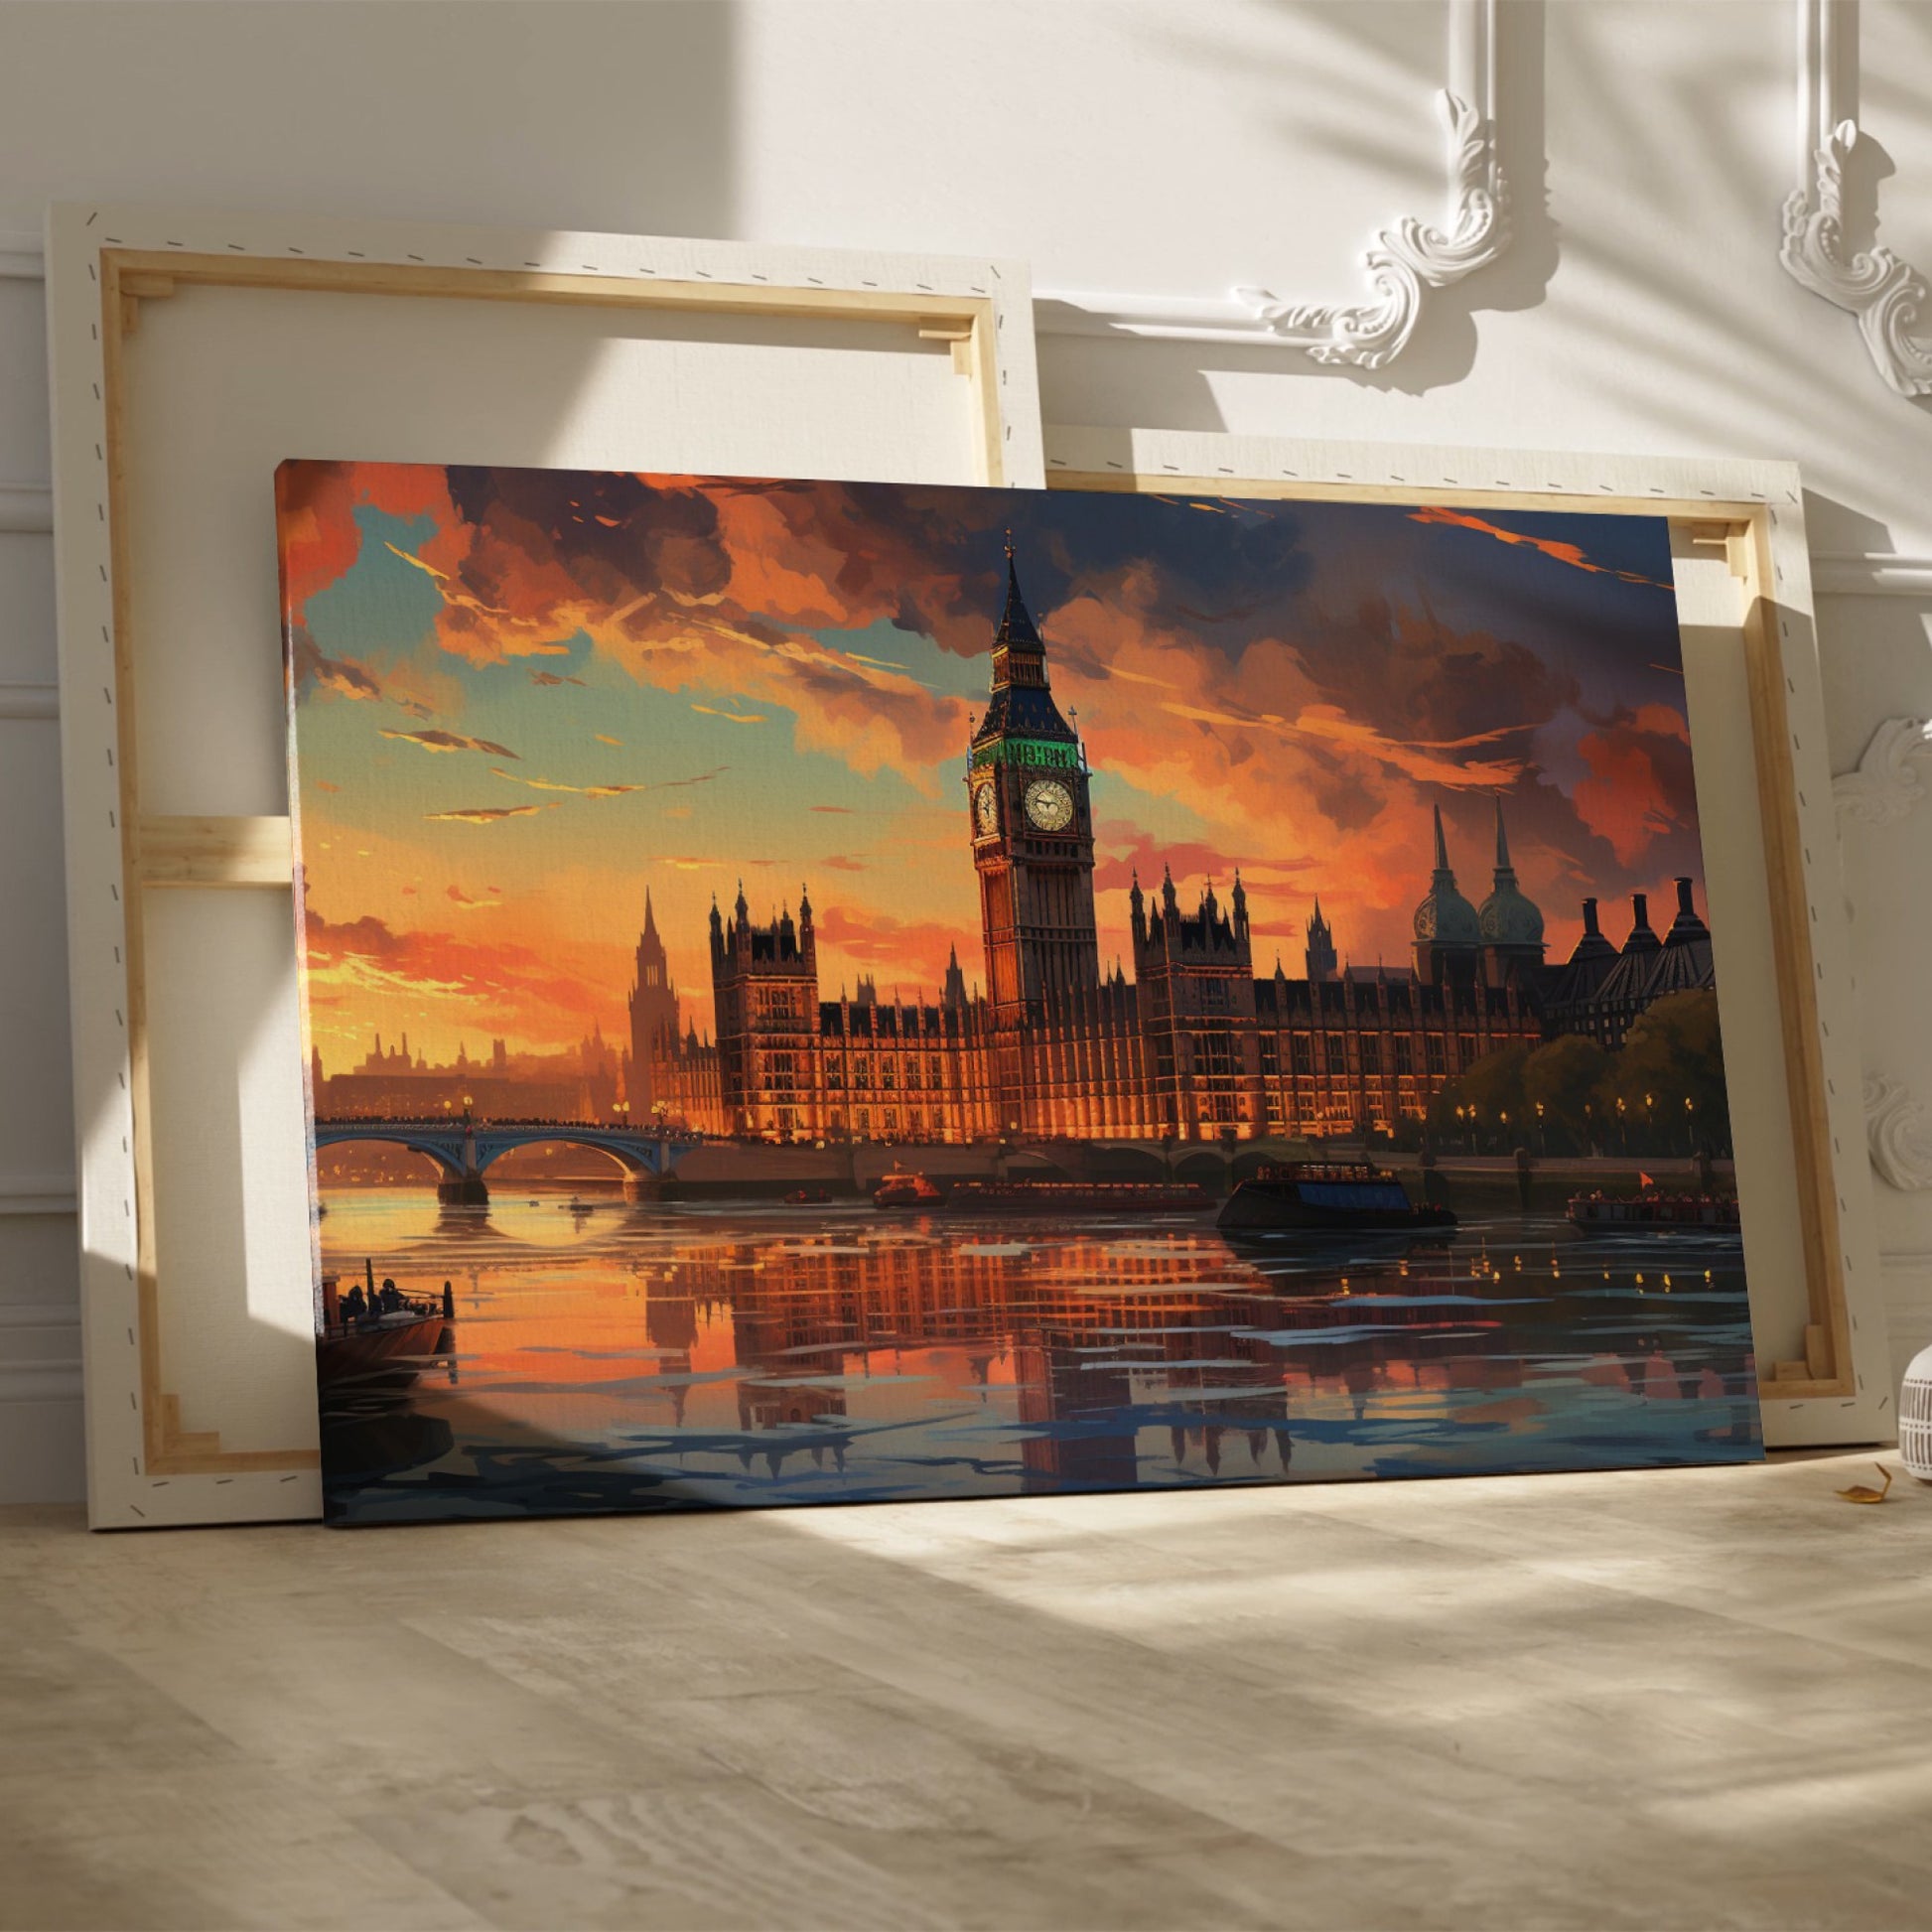
<path id="1" fill-rule="evenodd" d="M 1662 520 L 278 531 L 332 1520 L 1762 1453 Z"/>

